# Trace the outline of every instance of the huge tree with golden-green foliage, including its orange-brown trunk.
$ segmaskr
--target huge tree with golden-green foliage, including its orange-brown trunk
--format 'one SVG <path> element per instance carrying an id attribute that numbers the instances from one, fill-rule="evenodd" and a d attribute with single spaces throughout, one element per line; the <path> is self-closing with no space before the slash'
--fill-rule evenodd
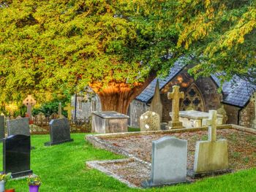
<path id="1" fill-rule="evenodd" d="M 127 112 L 157 72 L 192 55 L 192 72 L 255 69 L 255 1 L 0 1 L 0 101 L 75 93 Z"/>

